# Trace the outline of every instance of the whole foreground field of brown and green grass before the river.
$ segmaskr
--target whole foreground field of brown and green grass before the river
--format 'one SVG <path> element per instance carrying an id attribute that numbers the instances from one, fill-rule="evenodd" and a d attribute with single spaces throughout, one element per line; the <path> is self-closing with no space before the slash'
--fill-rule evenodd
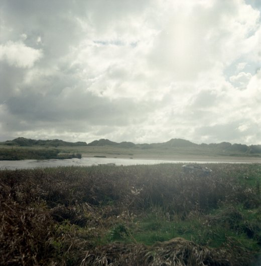
<path id="1" fill-rule="evenodd" d="M 261 165 L 208 167 L 211 175 L 184 173 L 181 164 L 1 170 L 0 259 L 253 265 L 261 244 Z"/>

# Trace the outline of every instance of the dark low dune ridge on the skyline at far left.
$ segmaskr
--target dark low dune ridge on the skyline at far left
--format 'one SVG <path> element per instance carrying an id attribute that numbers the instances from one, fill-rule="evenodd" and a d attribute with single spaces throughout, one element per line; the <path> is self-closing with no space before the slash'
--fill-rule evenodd
<path id="1" fill-rule="evenodd" d="M 35 140 L 35 139 L 27 139 L 27 138 L 16 138 L 13 140 L 7 140 L 5 142 L 1 142 L 2 145 L 10 145 L 10 146 L 87 146 L 86 142 L 66 142 L 60 139 L 52 139 L 52 140 Z"/>

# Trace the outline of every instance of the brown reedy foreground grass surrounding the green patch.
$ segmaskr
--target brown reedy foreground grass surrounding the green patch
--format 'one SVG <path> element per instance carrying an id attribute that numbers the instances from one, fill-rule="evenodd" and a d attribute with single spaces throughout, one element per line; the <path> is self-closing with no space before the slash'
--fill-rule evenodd
<path id="1" fill-rule="evenodd" d="M 187 219 L 192 212 L 207 214 L 224 204 L 260 205 L 260 195 L 244 189 L 235 178 L 248 169 L 247 165 L 208 167 L 213 170 L 211 175 L 184 173 L 180 164 L 1 170 L 1 263 L 248 265 L 248 250 L 233 239 L 216 249 L 182 238 L 153 246 L 95 243 L 115 221 L 129 221 L 131 213 L 143 216 L 161 208 L 169 219 Z M 209 224 L 231 223 L 233 229 L 240 221 L 240 213 L 234 209 L 227 212 L 229 216 L 224 211 Z M 124 213 L 128 214 L 125 220 Z M 243 230 L 253 230 L 253 226 L 246 224 Z"/>

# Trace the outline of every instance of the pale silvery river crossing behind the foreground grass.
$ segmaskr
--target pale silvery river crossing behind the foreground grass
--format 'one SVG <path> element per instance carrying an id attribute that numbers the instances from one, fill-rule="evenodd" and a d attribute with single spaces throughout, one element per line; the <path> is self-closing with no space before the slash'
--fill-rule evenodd
<path id="1" fill-rule="evenodd" d="M 131 158 L 96 158 L 85 157 L 82 159 L 50 159 L 50 160 L 17 160 L 0 161 L 0 169 L 28 169 L 57 166 L 91 166 L 100 164 L 112 165 L 138 165 L 138 164 L 158 164 L 158 163 L 261 163 L 260 159 L 179 159 L 179 160 L 159 160 L 159 159 L 131 159 Z"/>

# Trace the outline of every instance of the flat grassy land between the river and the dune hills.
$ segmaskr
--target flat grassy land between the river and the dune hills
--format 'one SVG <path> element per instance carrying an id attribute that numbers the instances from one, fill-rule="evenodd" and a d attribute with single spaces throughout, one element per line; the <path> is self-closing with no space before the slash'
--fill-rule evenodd
<path id="1" fill-rule="evenodd" d="M 149 145 L 149 144 L 148 144 Z M 44 145 L 4 145 L 0 143 L 1 160 L 21 159 L 66 159 L 72 157 L 105 156 L 111 158 L 192 160 L 192 161 L 241 161 L 261 162 L 260 153 L 247 153 L 240 150 L 224 151 L 212 146 L 172 147 L 158 146 L 143 148 L 122 146 L 44 146 Z"/>

